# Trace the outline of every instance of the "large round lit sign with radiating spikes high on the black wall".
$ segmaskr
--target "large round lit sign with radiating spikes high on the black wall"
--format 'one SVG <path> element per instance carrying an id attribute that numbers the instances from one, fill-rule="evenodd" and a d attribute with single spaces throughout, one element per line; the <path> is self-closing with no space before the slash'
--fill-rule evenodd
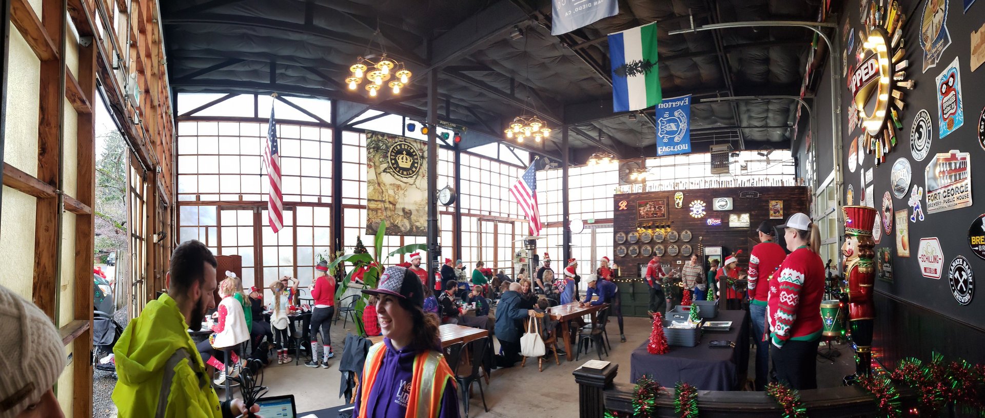
<path id="1" fill-rule="evenodd" d="M 913 89 L 906 80 L 909 60 L 903 59 L 902 26 L 904 16 L 893 1 L 881 21 L 863 36 L 862 51 L 868 54 L 852 74 L 849 90 L 864 131 L 860 149 L 875 154 L 876 165 L 886 162 L 886 154 L 896 145 L 896 135 L 903 128 L 900 113 L 905 107 L 902 89 Z M 891 33 L 891 36 L 890 36 Z"/>

